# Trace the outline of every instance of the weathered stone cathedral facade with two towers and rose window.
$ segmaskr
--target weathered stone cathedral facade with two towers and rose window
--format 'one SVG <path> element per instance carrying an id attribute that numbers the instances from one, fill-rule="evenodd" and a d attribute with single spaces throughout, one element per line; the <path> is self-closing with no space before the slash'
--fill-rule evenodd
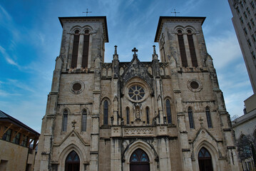
<path id="1" fill-rule="evenodd" d="M 152 60 L 104 63 L 106 16 L 61 17 L 35 170 L 240 170 L 205 17 L 160 16 Z"/>

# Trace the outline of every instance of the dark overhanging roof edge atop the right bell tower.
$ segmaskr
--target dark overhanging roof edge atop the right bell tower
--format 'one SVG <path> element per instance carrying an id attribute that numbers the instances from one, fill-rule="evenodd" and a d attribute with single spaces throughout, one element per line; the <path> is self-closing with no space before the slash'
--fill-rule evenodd
<path id="1" fill-rule="evenodd" d="M 169 20 L 191 20 L 191 19 L 196 19 L 201 21 L 201 25 L 203 25 L 203 22 L 205 21 L 206 17 L 204 16 L 160 16 L 159 21 L 158 21 L 158 28 L 155 33 L 155 42 L 158 42 L 159 39 L 159 33 L 160 30 L 162 29 L 162 21 L 163 19 L 169 19 Z"/>

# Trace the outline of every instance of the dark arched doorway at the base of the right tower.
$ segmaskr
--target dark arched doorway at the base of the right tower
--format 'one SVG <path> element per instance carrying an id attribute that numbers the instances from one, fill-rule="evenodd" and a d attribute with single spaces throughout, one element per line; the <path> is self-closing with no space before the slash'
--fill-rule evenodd
<path id="1" fill-rule="evenodd" d="M 205 147 L 202 147 L 198 153 L 198 165 L 200 171 L 213 171 L 212 157 Z"/>

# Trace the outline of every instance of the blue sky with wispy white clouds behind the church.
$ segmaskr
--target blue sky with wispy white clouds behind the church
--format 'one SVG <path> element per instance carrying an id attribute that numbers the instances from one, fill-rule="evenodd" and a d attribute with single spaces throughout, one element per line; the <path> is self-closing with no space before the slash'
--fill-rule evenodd
<path id="1" fill-rule="evenodd" d="M 106 16 L 109 43 L 105 62 L 115 45 L 120 61 L 151 61 L 159 16 L 206 16 L 203 32 L 213 57 L 230 115 L 242 115 L 243 100 L 252 95 L 249 77 L 232 26 L 227 0 L 9 0 L 0 2 L 0 110 L 41 131 L 47 95 L 61 44 L 58 16 Z M 159 53 L 159 51 L 157 51 Z"/>

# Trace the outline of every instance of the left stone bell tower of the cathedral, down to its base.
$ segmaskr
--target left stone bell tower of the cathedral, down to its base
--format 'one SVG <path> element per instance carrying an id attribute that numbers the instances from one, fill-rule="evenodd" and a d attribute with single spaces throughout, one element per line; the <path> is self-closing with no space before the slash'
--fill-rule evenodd
<path id="1" fill-rule="evenodd" d="M 98 170 L 106 16 L 60 17 L 59 21 L 63 27 L 61 52 L 53 71 L 35 170 Z M 78 157 L 67 162 L 72 154 Z"/>

